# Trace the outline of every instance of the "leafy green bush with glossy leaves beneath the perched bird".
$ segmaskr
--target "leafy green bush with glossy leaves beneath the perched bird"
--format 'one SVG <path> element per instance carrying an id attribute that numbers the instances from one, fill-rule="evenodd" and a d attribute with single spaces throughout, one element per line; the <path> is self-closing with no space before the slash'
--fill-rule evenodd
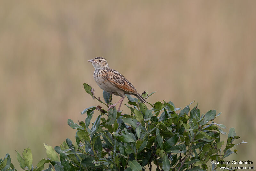
<path id="1" fill-rule="evenodd" d="M 88 84 L 84 84 L 84 88 L 96 98 L 94 89 Z M 154 93 L 148 95 L 144 92 L 142 96 L 147 99 Z M 112 96 L 103 92 L 103 97 L 105 103 L 100 98 L 96 99 L 108 106 Z M 226 127 L 213 122 L 220 115 L 216 110 L 200 114 L 198 104 L 192 110 L 191 104 L 181 110 L 175 108 L 171 101 L 148 103 L 148 109 L 138 99 L 127 97 L 129 105 L 126 106 L 131 110 L 130 114 L 121 114 L 115 108 L 107 112 L 100 106 L 89 107 L 81 112 L 87 115 L 85 122 L 77 124 L 68 119 L 68 125 L 77 130 L 74 143 L 67 138 L 54 149 L 44 144 L 48 158 L 42 159 L 35 168 L 29 148 L 23 151 L 22 156 L 17 152 L 20 167 L 41 171 L 44 164 L 50 162 L 45 171 L 141 171 L 146 167 L 151 171 L 154 163 L 156 170 L 204 171 L 208 170 L 206 163 L 210 159 L 224 161 L 225 157 L 237 153 L 237 150 L 231 151 L 236 146 L 233 140 L 240 138 L 234 128 L 229 130 L 226 146 L 221 150 L 225 142 L 220 141 L 220 134 L 226 135 L 221 128 Z M 95 110 L 100 115 L 89 129 Z M 16 170 L 9 154 L 0 163 L 0 171 Z M 212 164 L 211 170 L 220 166 L 226 165 Z"/>

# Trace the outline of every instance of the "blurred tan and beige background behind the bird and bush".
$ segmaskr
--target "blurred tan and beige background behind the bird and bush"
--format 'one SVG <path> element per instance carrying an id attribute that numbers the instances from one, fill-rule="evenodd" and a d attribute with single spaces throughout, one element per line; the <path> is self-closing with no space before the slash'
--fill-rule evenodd
<path id="1" fill-rule="evenodd" d="M 218 123 L 249 144 L 228 161 L 256 163 L 256 1 L 1 1 L 0 158 L 43 143 L 59 146 L 76 131 L 67 120 L 101 105 L 83 83 L 102 90 L 87 60 L 104 57 L 138 92 L 216 109 Z M 120 97 L 114 96 L 113 102 Z M 125 99 L 125 104 L 127 98 Z M 148 106 L 149 107 L 149 106 Z M 121 110 L 128 112 L 122 105 Z M 98 115 L 94 114 L 95 120 Z"/>

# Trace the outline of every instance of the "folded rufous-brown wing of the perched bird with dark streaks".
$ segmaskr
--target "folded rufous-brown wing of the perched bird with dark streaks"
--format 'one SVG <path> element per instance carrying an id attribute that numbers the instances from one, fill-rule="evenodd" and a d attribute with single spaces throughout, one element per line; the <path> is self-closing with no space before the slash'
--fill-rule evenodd
<path id="1" fill-rule="evenodd" d="M 108 72 L 108 81 L 129 94 L 138 94 L 133 85 L 114 69 Z"/>

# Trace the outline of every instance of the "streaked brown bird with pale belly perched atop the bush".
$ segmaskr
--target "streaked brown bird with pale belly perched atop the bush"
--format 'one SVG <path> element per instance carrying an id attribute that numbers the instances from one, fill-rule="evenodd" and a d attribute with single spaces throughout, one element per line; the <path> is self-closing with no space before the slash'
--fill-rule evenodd
<path id="1" fill-rule="evenodd" d="M 95 68 L 93 77 L 98 86 L 108 93 L 112 93 L 121 97 L 117 103 L 108 105 L 108 111 L 120 103 L 117 110 L 117 112 L 119 112 L 126 94 L 134 95 L 142 103 L 146 103 L 146 100 L 137 92 L 135 87 L 124 78 L 122 74 L 108 66 L 105 58 L 96 57 L 94 59 L 88 60 L 88 62 L 91 62 Z"/>

